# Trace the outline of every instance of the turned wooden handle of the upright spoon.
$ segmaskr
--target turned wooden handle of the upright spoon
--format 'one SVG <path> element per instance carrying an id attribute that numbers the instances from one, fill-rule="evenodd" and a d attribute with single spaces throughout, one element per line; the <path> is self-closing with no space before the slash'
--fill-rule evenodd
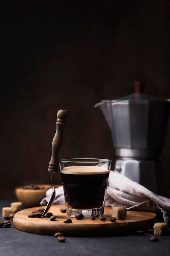
<path id="1" fill-rule="evenodd" d="M 52 140 L 51 159 L 48 165 L 50 173 L 56 173 L 59 166 L 59 153 L 63 145 L 63 130 L 66 124 L 68 112 L 66 110 L 59 110 L 57 112 L 56 132 Z"/>

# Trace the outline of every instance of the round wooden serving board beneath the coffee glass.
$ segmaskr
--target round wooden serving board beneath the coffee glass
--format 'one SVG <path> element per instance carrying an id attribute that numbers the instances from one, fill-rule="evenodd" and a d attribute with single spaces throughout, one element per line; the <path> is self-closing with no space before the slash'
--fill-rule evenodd
<path id="1" fill-rule="evenodd" d="M 44 207 L 45 208 L 45 207 Z M 137 230 L 148 230 L 153 227 L 156 222 L 156 214 L 149 211 L 127 211 L 125 220 L 116 220 L 111 222 L 111 207 L 105 207 L 104 216 L 107 220 L 102 222 L 96 220 L 72 219 L 72 223 L 63 223 L 68 218 L 66 213 L 61 213 L 60 208 L 64 205 L 53 205 L 50 212 L 57 216 L 55 221 L 49 218 L 28 218 L 28 214 L 36 211 L 39 207 L 28 208 L 15 213 L 13 224 L 17 229 L 22 231 L 54 235 L 56 232 L 62 232 L 64 236 L 115 236 L 129 234 Z"/>

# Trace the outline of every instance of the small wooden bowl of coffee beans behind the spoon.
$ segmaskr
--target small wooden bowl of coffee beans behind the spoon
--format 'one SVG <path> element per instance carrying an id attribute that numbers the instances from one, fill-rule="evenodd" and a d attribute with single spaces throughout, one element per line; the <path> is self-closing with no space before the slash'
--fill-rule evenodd
<path id="1" fill-rule="evenodd" d="M 15 195 L 17 199 L 22 202 L 24 207 L 31 208 L 40 206 L 41 200 L 46 197 L 46 191 L 52 188 L 50 184 L 34 185 L 34 187 L 35 186 L 41 189 L 25 189 L 24 187 L 26 186 L 18 186 L 15 188 Z"/>

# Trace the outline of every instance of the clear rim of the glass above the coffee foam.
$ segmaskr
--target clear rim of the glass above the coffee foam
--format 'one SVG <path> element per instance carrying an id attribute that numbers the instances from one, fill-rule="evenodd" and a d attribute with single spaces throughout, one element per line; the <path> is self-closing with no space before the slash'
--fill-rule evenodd
<path id="1" fill-rule="evenodd" d="M 60 163 L 107 163 L 110 159 L 105 158 L 65 158 L 59 159 Z"/>

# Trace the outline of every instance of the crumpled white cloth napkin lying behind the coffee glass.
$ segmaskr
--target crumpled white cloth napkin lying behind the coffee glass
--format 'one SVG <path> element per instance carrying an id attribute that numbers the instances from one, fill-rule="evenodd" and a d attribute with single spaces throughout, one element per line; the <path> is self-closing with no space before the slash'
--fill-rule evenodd
<path id="1" fill-rule="evenodd" d="M 40 202 L 41 205 L 47 204 L 51 193 L 52 189 L 46 192 L 46 198 Z M 65 204 L 62 186 L 56 189 L 54 204 Z M 110 171 L 109 174 L 105 205 L 125 205 L 128 210 L 133 211 L 154 211 L 160 221 L 163 218 L 166 224 L 170 224 L 170 198 L 156 195 L 115 171 Z"/>

